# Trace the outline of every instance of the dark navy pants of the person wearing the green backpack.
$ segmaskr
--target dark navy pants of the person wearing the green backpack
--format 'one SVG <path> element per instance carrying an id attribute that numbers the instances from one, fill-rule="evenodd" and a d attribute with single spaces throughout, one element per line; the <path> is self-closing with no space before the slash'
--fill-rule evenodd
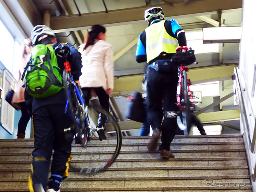
<path id="1" fill-rule="evenodd" d="M 32 152 L 32 186 L 37 184 L 47 188 L 48 173 L 52 150 L 51 172 L 60 182 L 62 177 L 67 176 L 68 158 L 70 158 L 71 142 L 65 140 L 64 128 L 71 125 L 71 120 L 64 113 L 64 104 L 41 106 L 33 114 L 34 126 L 34 150 Z"/>

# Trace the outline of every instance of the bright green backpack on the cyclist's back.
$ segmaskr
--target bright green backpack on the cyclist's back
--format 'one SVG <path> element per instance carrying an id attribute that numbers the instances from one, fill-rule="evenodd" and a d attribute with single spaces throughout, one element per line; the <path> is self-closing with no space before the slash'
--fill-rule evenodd
<path id="1" fill-rule="evenodd" d="M 62 89 L 62 75 L 52 46 L 38 44 L 23 73 L 26 91 L 34 98 L 44 98 Z"/>

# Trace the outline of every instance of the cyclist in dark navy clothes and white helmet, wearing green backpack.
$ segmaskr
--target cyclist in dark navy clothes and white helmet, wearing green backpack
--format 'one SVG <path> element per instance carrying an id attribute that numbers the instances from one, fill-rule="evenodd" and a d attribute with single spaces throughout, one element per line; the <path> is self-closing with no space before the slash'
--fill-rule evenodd
<path id="1" fill-rule="evenodd" d="M 44 44 L 51 46 L 56 42 L 52 29 L 45 25 L 37 25 L 31 32 L 33 46 Z M 56 44 L 55 44 L 56 45 Z M 57 43 L 58 46 L 64 44 Z M 68 58 L 72 68 L 72 76 L 79 83 L 82 74 L 81 54 L 69 43 Z M 33 51 L 32 51 L 33 52 Z M 58 67 L 63 71 L 64 64 L 57 57 Z M 27 64 L 28 65 L 28 64 Z M 61 72 L 60 72 L 61 73 Z M 62 74 L 62 73 L 61 73 Z M 71 119 L 66 117 L 66 94 L 62 88 L 56 94 L 44 98 L 35 98 L 25 93 L 26 103 L 31 100 L 34 128 L 34 150 L 32 152 L 32 174 L 29 178 L 30 192 L 60 192 L 60 182 L 68 176 L 68 161 L 70 160 L 71 142 L 65 140 L 64 129 L 70 127 Z M 51 177 L 48 182 L 50 160 L 52 156 Z"/>

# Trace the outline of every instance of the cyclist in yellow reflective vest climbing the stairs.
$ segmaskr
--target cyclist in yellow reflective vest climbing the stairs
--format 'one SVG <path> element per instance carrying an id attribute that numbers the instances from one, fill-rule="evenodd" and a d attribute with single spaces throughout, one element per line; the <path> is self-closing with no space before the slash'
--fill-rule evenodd
<path id="1" fill-rule="evenodd" d="M 148 23 L 139 36 L 136 61 L 147 62 L 147 119 L 153 129 L 148 150 L 155 150 L 162 132 L 160 155 L 164 159 L 174 158 L 170 151 L 175 131 L 176 118 L 164 118 L 163 111 L 177 111 L 176 91 L 178 83 L 178 66 L 170 62 L 178 46 L 186 46 L 184 30 L 174 20 L 164 20 L 164 12 L 160 7 L 152 7 L 145 11 L 144 18 Z"/>

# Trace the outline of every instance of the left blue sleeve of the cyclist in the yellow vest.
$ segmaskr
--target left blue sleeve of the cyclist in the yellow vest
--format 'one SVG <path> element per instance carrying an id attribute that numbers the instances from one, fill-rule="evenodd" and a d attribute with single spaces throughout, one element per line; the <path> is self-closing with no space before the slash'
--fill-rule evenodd
<path id="1" fill-rule="evenodd" d="M 136 55 L 136 61 L 138 63 L 145 62 L 147 60 L 147 56 L 146 56 L 146 33 L 145 33 L 145 31 L 143 31 L 139 36 L 135 55 Z"/>

